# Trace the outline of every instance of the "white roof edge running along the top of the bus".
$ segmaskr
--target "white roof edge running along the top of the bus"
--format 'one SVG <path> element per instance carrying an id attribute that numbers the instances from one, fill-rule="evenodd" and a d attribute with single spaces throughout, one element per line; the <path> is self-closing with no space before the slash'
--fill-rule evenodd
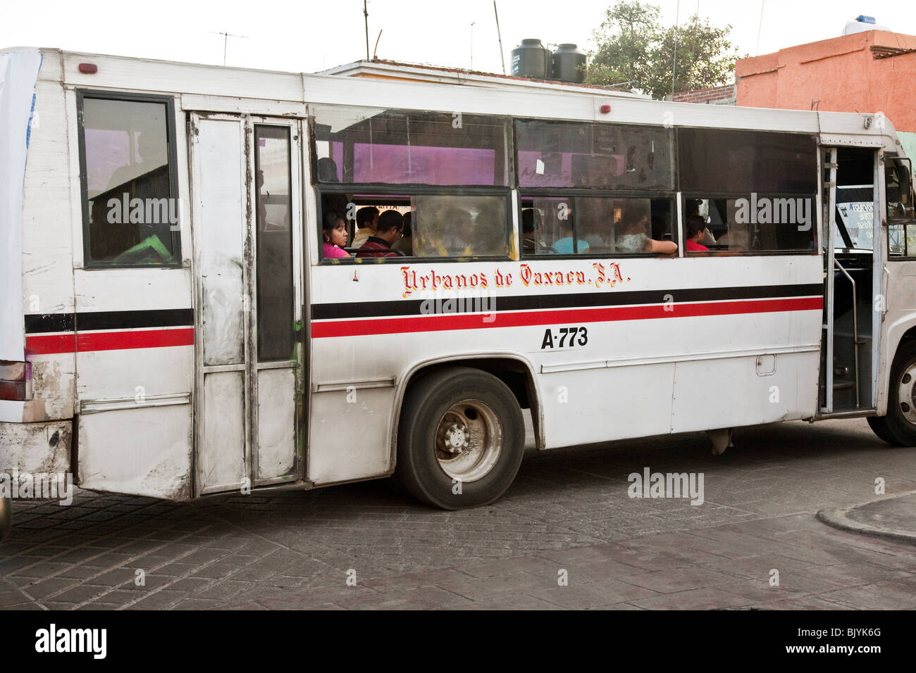
<path id="1" fill-rule="evenodd" d="M 24 50 L 0 49 L 0 52 Z M 823 145 L 883 147 L 903 154 L 890 120 L 881 114 L 778 110 L 732 105 L 653 101 L 591 87 L 456 85 L 439 81 L 395 81 L 333 74 L 265 71 L 197 63 L 38 49 L 38 79 L 67 88 L 167 92 L 182 109 L 305 117 L 308 105 L 344 104 L 411 108 L 463 114 L 606 121 L 729 129 L 782 131 L 818 136 Z M 93 63 L 95 73 L 83 73 Z M 603 106 L 609 112 L 602 112 Z"/>

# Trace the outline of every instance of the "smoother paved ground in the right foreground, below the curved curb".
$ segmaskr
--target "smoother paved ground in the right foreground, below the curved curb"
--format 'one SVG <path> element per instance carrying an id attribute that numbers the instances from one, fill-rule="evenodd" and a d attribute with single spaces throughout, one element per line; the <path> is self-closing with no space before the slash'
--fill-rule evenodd
<path id="1" fill-rule="evenodd" d="M 916 557 L 811 515 L 289 592 L 238 610 L 916 609 Z"/>

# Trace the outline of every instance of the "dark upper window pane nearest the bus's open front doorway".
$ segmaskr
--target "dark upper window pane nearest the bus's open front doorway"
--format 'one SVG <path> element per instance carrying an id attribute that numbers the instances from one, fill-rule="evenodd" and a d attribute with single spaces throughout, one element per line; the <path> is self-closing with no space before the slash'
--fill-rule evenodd
<path id="1" fill-rule="evenodd" d="M 682 128 L 678 157 L 682 191 L 749 198 L 751 193 L 817 190 L 817 150 L 810 136 Z"/>

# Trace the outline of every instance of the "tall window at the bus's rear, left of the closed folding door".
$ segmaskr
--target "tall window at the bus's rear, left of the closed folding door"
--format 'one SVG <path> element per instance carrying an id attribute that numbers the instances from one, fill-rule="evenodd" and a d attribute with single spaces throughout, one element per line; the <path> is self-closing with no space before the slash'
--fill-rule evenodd
<path id="1" fill-rule="evenodd" d="M 83 97 L 87 265 L 180 264 L 169 114 L 164 101 Z"/>

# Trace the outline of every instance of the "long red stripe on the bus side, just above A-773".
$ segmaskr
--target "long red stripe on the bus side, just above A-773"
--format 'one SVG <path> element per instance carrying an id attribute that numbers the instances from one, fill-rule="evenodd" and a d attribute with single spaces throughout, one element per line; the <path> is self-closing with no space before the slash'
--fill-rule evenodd
<path id="1" fill-rule="evenodd" d="M 613 322 L 616 320 L 653 320 L 696 316 L 773 313 L 791 310 L 822 310 L 823 298 L 760 299 L 751 301 L 717 301 L 695 304 L 662 304 L 622 306 L 605 309 L 564 309 L 518 311 L 485 314 L 439 314 L 411 318 L 376 320 L 337 320 L 311 323 L 311 336 L 322 339 L 336 336 L 398 334 L 411 331 L 480 330 L 489 327 L 531 327 L 535 325 L 572 324 L 575 322 Z M 487 318 L 495 320 L 486 321 Z"/>

